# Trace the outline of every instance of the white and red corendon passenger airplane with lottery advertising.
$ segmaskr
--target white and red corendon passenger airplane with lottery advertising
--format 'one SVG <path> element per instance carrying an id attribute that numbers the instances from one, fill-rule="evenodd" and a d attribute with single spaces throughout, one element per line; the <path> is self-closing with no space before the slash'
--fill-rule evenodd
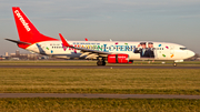
<path id="1" fill-rule="evenodd" d="M 173 65 L 194 55 L 186 47 L 169 42 L 152 41 L 67 41 L 40 33 L 19 7 L 12 7 L 20 40 L 6 39 L 19 48 L 54 58 L 96 59 L 97 65 L 108 63 L 133 63 L 134 60 L 171 60 Z"/>

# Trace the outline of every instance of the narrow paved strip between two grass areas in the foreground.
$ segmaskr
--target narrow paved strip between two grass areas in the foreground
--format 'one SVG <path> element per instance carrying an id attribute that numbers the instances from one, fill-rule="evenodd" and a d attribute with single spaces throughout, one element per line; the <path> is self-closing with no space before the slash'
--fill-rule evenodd
<path id="1" fill-rule="evenodd" d="M 78 94 L 78 93 L 0 93 L 0 98 L 200 99 L 200 95 L 171 95 L 171 94 Z"/>

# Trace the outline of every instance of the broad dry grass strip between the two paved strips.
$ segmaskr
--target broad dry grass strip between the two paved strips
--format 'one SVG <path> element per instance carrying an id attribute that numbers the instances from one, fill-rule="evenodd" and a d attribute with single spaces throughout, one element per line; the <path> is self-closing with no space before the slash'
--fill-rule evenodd
<path id="1" fill-rule="evenodd" d="M 200 94 L 194 69 L 0 69 L 1 93 Z"/>

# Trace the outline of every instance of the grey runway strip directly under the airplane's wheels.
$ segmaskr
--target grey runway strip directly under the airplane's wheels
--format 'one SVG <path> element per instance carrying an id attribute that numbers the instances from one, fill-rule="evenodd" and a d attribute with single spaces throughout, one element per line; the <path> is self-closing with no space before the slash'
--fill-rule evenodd
<path id="1" fill-rule="evenodd" d="M 200 67 L 167 67 L 167 65 L 0 65 L 0 68 L 19 69 L 200 69 Z"/>

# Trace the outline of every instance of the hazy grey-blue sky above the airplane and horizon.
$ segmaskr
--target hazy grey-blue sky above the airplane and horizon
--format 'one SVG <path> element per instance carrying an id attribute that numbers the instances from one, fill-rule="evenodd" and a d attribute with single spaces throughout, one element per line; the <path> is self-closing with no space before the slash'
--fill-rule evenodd
<path id="1" fill-rule="evenodd" d="M 58 39 L 173 42 L 200 53 L 199 0 L 0 0 L 0 55 L 20 50 L 3 40 L 18 39 L 11 7 Z"/>

